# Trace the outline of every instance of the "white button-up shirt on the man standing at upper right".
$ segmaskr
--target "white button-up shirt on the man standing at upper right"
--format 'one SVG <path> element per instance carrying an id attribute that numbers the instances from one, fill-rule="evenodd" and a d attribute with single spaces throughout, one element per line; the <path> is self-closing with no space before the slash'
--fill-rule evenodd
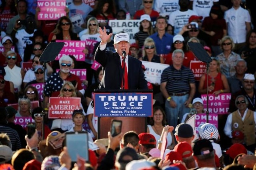
<path id="1" fill-rule="evenodd" d="M 228 24 L 228 35 L 232 37 L 234 43 L 244 43 L 246 41 L 246 22 L 251 22 L 250 14 L 247 10 L 233 7 L 224 14 L 224 19 Z"/>

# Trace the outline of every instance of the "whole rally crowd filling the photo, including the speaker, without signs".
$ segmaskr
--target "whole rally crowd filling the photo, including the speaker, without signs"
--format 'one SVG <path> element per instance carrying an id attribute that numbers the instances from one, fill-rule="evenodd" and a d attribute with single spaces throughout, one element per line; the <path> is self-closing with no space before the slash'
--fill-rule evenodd
<path id="1" fill-rule="evenodd" d="M 38 0 L 0 0 L 0 170 L 256 170 L 251 1 L 66 0 L 66 16 L 41 20 Z M 138 20 L 134 41 L 108 24 L 131 19 Z M 82 49 L 84 61 L 66 53 L 40 62 L 47 45 L 58 41 L 95 43 Z M 191 63 L 200 60 L 188 42 L 200 44 L 211 59 L 199 77 Z M 98 69 L 92 67 L 96 61 Z M 146 81 L 142 61 L 169 65 L 160 83 Z M 86 80 L 73 69 L 86 69 Z M 99 139 L 94 89 L 152 89 L 147 131 Z M 195 129 L 186 122 L 206 114 L 202 94 L 231 99 L 217 125 L 204 122 Z M 53 97 L 80 98 L 78 109 L 68 119 L 49 118 Z M 19 118 L 34 122 L 32 137 Z M 65 137 L 75 132 L 87 134 L 87 160 L 72 160 Z"/>

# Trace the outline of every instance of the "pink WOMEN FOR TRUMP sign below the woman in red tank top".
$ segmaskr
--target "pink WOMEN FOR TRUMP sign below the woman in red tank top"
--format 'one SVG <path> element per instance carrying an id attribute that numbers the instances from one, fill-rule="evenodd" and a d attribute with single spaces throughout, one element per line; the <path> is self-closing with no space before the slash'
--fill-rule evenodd
<path id="1" fill-rule="evenodd" d="M 209 104 L 208 111 L 209 113 L 216 114 L 227 114 L 229 109 L 229 102 L 231 99 L 230 93 L 221 93 L 218 96 L 214 94 L 208 94 Z M 206 94 L 202 94 L 201 98 L 204 102 L 204 108 L 206 108 Z"/>

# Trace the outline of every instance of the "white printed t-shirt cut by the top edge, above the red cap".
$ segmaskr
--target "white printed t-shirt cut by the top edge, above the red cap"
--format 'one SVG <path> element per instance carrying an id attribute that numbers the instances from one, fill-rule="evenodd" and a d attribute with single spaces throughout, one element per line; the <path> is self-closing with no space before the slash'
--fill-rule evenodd
<path id="1" fill-rule="evenodd" d="M 198 13 L 198 16 L 208 17 L 210 10 L 213 6 L 213 2 L 219 0 L 190 0 L 193 1 L 193 11 Z"/>

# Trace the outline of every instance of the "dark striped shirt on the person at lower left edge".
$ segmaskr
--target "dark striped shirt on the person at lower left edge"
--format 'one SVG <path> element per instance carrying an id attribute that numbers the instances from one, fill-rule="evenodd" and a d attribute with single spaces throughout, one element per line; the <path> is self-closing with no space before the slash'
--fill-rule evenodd
<path id="1" fill-rule="evenodd" d="M 21 149 L 20 137 L 18 132 L 10 127 L 6 127 L 4 125 L 0 125 L 0 133 L 7 133 L 8 137 L 12 143 L 12 151 L 16 151 Z"/>

